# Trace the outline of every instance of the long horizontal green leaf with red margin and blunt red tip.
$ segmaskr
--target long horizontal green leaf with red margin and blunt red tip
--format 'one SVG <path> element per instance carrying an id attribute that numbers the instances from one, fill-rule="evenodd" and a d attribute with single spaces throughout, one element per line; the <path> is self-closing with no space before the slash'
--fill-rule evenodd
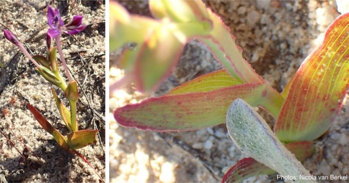
<path id="1" fill-rule="evenodd" d="M 266 92 L 268 87 L 265 83 L 250 83 L 209 92 L 150 98 L 140 104 L 118 108 L 114 117 L 122 126 L 142 130 L 181 131 L 205 128 L 225 123 L 226 111 L 236 98 L 243 98 L 252 106 L 270 105 Z"/>

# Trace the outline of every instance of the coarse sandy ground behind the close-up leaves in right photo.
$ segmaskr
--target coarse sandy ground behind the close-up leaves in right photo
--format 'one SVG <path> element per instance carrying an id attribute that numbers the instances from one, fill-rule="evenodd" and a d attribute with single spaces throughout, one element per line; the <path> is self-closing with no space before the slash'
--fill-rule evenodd
<path id="1" fill-rule="evenodd" d="M 320 43 L 326 27 L 339 15 L 334 1 L 205 3 L 231 28 L 237 44 L 244 50 L 243 56 L 256 72 L 278 91 L 282 91 L 304 58 Z M 133 13 L 150 15 L 146 1 L 123 4 Z M 116 62 L 117 59 L 111 60 L 111 81 L 122 75 L 115 67 Z M 191 41 L 173 74 L 153 96 L 219 68 L 221 65 L 204 46 Z M 117 107 L 148 97 L 135 92 L 132 86 L 114 93 L 110 99 L 110 118 L 113 119 L 112 112 Z M 313 175 L 348 175 L 348 110 L 349 104 L 345 102 L 328 133 L 316 140 L 314 156 L 303 163 Z M 272 126 L 271 118 L 264 116 Z M 225 125 L 160 134 L 124 128 L 112 120 L 110 129 L 110 181 L 113 183 L 220 182 L 222 175 L 244 158 L 227 136 Z M 275 181 L 275 175 L 245 180 Z"/>

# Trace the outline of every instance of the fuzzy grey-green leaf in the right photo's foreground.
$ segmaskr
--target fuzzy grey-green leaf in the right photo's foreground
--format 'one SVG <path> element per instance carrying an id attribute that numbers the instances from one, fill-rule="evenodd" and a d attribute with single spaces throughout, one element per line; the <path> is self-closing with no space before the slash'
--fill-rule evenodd
<path id="1" fill-rule="evenodd" d="M 244 154 L 268 166 L 282 176 L 295 176 L 287 182 L 311 182 L 302 180 L 311 176 L 295 156 L 276 138 L 268 124 L 242 99 L 236 99 L 226 115 L 228 134 Z"/>

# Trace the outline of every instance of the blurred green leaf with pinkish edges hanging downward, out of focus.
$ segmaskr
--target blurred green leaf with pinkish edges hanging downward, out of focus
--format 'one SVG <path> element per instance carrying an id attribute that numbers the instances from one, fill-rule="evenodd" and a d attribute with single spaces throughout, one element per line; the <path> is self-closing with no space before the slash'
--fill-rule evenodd
<path id="1" fill-rule="evenodd" d="M 158 26 L 142 45 L 135 62 L 136 87 L 140 91 L 157 88 L 179 61 L 184 43 L 172 30 Z"/>

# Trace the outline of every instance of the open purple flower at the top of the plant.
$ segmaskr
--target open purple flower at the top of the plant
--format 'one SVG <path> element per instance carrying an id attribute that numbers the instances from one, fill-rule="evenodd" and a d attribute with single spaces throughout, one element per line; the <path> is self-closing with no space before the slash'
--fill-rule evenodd
<path id="1" fill-rule="evenodd" d="M 51 37 L 57 37 L 61 32 L 68 34 L 76 34 L 83 31 L 86 25 L 82 23 L 83 16 L 74 16 L 72 20 L 64 24 L 59 14 L 58 9 L 53 10 L 50 6 L 47 6 L 47 23 L 50 27 L 47 34 Z"/>

